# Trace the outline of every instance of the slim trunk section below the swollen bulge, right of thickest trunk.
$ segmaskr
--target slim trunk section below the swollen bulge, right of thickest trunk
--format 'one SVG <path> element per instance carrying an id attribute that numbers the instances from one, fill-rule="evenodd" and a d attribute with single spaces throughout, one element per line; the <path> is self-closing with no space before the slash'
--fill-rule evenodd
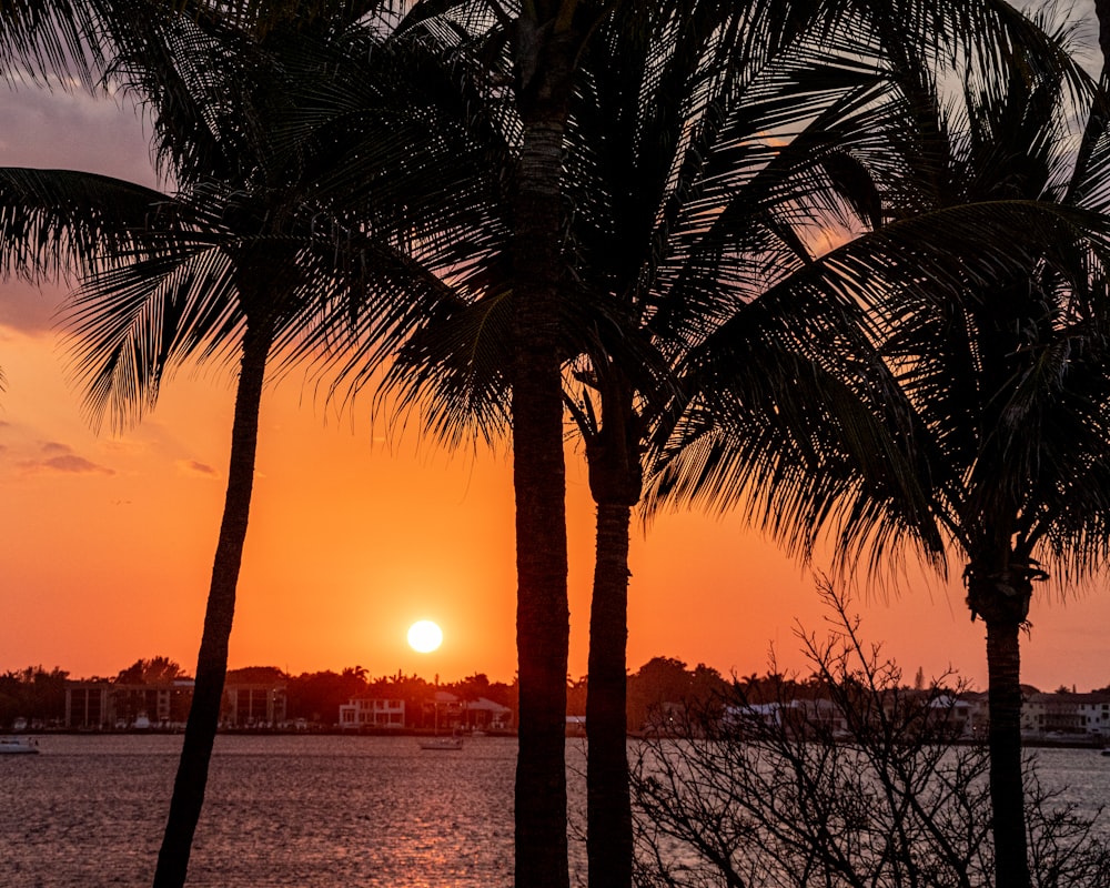
<path id="1" fill-rule="evenodd" d="M 593 475 L 593 472 L 591 473 Z M 586 855 L 589 885 L 632 886 L 627 675 L 628 527 L 632 508 L 597 506 L 586 689 Z"/>

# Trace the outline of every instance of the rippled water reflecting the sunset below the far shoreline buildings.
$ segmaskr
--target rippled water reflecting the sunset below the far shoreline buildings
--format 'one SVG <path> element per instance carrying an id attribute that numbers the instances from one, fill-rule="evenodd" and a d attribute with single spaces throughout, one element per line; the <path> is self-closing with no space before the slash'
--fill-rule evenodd
<path id="1" fill-rule="evenodd" d="M 148 886 L 179 737 L 50 736 L 0 756 L 0 888 Z M 568 741 L 572 809 L 584 796 Z M 1041 750 L 1046 786 L 1093 810 L 1110 757 Z M 514 739 L 428 753 L 412 737 L 216 741 L 189 884 L 195 888 L 508 888 Z M 572 837 L 573 868 L 584 870 Z"/>

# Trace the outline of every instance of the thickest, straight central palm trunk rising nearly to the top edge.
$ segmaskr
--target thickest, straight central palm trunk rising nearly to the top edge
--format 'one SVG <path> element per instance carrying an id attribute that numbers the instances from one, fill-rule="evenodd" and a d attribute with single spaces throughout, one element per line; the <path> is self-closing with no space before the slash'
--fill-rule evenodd
<path id="1" fill-rule="evenodd" d="M 519 724 L 516 888 L 568 888 L 566 839 L 566 467 L 558 354 L 563 134 L 572 53 L 518 20 L 517 104 L 524 141 L 514 208 L 515 354 L 513 484 L 516 494 Z"/>

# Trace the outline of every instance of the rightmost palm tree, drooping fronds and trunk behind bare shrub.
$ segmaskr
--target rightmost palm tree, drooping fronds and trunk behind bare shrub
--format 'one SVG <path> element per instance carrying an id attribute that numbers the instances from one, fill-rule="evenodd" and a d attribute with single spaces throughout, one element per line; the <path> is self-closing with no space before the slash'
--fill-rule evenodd
<path id="1" fill-rule="evenodd" d="M 796 551 L 834 527 L 841 566 L 866 554 L 877 568 L 910 544 L 940 569 L 962 556 L 987 628 L 996 885 L 1026 888 L 1019 632 L 1046 568 L 1063 585 L 1088 577 L 1110 538 L 1104 85 L 1077 92 L 1074 71 L 1012 64 L 968 78 L 953 104 L 919 57 L 896 62 L 908 113 L 887 131 L 888 222 L 818 270 L 848 278 L 875 339 L 799 349 L 808 333 L 749 312 L 745 353 L 789 341 L 796 392 L 824 403 L 740 384 L 761 418 L 727 441 L 710 432 L 658 481 L 718 505 L 758 490 L 751 513 Z M 1090 113 L 1072 133 L 1077 98 Z M 891 278 L 908 264 L 919 283 Z M 729 336 L 702 355 L 718 371 L 743 339 Z M 707 426 L 689 416 L 696 437 Z"/>

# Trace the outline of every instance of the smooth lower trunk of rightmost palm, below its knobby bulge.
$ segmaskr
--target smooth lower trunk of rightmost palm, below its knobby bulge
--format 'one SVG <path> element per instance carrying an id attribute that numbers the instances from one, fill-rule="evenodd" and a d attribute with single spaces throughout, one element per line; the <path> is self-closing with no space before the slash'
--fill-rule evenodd
<path id="1" fill-rule="evenodd" d="M 1021 784 L 1020 623 L 989 616 L 986 622 L 995 888 L 1030 888 Z"/>

